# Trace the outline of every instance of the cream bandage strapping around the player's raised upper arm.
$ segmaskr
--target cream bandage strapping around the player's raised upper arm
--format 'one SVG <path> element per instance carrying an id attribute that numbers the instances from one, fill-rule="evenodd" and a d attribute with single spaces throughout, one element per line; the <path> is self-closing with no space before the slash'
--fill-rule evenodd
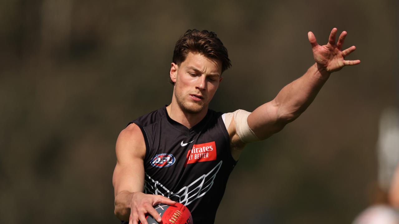
<path id="1" fill-rule="evenodd" d="M 244 143 L 251 143 L 255 141 L 260 141 L 258 137 L 256 137 L 255 133 L 248 126 L 248 116 L 251 112 L 245 110 L 236 110 L 231 113 L 223 114 L 223 122 L 226 126 L 226 129 L 229 129 L 232 118 L 234 117 L 235 121 L 235 130 L 237 135 L 240 137 L 241 141 Z"/>

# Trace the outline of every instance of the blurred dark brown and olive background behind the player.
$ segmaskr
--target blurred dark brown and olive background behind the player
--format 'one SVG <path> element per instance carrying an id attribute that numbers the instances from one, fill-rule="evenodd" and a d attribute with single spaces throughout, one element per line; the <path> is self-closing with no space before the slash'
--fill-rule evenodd
<path id="1" fill-rule="evenodd" d="M 348 59 L 300 118 L 249 145 L 216 223 L 350 223 L 373 201 L 381 111 L 398 100 L 397 0 L 0 1 L 0 223 L 119 223 L 115 141 L 169 104 L 187 29 L 229 51 L 211 108 L 252 111 L 348 31 Z M 205 215 L 205 214 L 204 214 Z"/>

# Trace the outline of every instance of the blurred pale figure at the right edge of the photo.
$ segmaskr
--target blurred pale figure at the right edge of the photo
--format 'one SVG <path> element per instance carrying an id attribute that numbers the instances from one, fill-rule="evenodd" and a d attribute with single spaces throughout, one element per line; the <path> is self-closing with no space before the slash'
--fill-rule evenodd
<path id="1" fill-rule="evenodd" d="M 354 224 L 399 224 L 399 111 L 387 108 L 379 122 L 378 188 L 374 205 Z"/>

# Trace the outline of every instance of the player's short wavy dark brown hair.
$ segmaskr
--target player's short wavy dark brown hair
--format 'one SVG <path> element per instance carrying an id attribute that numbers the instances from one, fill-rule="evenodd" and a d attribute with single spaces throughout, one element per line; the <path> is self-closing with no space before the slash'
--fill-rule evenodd
<path id="1" fill-rule="evenodd" d="M 188 52 L 201 53 L 205 57 L 218 59 L 222 63 L 222 73 L 231 67 L 231 61 L 227 54 L 227 49 L 222 41 L 212 31 L 199 31 L 197 29 L 189 29 L 176 42 L 173 51 L 173 63 L 180 65 L 186 60 Z M 174 84 L 169 78 L 170 83 Z"/>

